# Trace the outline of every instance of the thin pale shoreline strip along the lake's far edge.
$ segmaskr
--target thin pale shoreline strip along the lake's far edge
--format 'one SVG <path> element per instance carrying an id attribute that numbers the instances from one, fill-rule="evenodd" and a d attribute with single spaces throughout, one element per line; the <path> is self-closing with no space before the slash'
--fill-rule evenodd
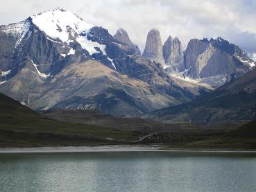
<path id="1" fill-rule="evenodd" d="M 0 148 L 1 154 L 15 153 L 68 153 L 68 152 L 204 152 L 204 153 L 253 153 L 256 150 L 230 149 L 180 149 L 163 148 L 164 146 L 60 146 L 60 147 L 31 147 L 31 148 Z"/>

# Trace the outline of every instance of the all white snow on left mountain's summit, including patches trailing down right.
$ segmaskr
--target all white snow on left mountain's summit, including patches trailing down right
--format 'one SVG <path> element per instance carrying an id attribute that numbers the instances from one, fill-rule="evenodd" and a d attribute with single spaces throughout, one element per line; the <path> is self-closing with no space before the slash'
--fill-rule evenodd
<path id="1" fill-rule="evenodd" d="M 62 8 L 56 8 L 53 11 L 33 15 L 31 18 L 33 24 L 48 36 L 48 40 L 61 42 L 70 47 L 68 52 L 64 50 L 61 53 L 63 57 L 76 53 L 76 50 L 72 48 L 74 42 L 78 43 L 89 55 L 94 53 L 107 55 L 105 44 L 89 40 L 92 37 L 89 31 L 94 25 L 88 24 L 72 12 L 63 10 Z M 108 60 L 112 63 L 112 67 L 115 68 L 112 59 L 108 58 Z"/>

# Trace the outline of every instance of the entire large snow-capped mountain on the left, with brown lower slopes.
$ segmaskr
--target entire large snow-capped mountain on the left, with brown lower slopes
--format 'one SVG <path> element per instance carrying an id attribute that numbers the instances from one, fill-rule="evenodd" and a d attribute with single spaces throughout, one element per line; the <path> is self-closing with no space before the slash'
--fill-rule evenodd
<path id="1" fill-rule="evenodd" d="M 0 50 L 0 91 L 35 110 L 135 116 L 194 98 L 135 46 L 61 8 L 1 26 Z"/>

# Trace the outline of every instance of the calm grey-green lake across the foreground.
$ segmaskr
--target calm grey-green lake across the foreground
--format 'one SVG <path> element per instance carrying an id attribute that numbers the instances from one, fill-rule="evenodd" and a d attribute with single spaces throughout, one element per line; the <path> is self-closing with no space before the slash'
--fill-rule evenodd
<path id="1" fill-rule="evenodd" d="M 87 151 L 0 154 L 0 191 L 256 191 L 256 155 Z"/>

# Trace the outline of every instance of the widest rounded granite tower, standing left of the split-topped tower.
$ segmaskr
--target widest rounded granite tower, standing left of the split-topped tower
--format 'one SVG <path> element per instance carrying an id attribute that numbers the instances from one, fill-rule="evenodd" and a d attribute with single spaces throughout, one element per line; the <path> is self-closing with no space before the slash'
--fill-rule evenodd
<path id="1" fill-rule="evenodd" d="M 148 60 L 160 62 L 162 65 L 164 65 L 162 40 L 159 30 L 152 29 L 148 32 L 146 37 L 146 45 L 142 56 Z"/>

